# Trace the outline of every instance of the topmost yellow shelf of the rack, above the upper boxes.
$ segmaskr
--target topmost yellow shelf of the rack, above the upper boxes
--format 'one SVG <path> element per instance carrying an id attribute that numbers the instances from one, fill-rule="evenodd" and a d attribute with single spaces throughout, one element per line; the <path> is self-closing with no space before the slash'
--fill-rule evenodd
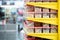
<path id="1" fill-rule="evenodd" d="M 26 4 L 58 10 L 57 2 L 27 2 Z"/>

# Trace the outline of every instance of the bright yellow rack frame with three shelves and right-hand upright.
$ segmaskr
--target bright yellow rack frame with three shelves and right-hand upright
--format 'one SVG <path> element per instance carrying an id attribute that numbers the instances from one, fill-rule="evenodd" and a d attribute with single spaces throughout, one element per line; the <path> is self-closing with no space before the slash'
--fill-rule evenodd
<path id="1" fill-rule="evenodd" d="M 56 18 L 34 18 L 34 17 L 26 17 L 27 20 L 30 20 L 30 21 L 33 21 L 33 22 L 42 22 L 42 23 L 47 23 L 47 24 L 52 24 L 52 25 L 58 25 L 57 26 L 57 30 L 58 32 L 57 33 L 31 33 L 31 32 L 28 32 L 27 31 L 27 28 L 35 28 L 35 27 L 27 27 L 25 25 L 24 27 L 24 30 L 25 32 L 27 32 L 26 34 L 29 35 L 29 36 L 34 36 L 34 37 L 40 37 L 40 38 L 47 38 L 47 39 L 52 39 L 52 40 L 60 40 L 60 16 L 59 16 L 59 13 L 60 13 L 60 1 L 58 0 L 57 2 L 26 2 L 26 5 L 30 5 L 30 6 L 34 6 L 34 7 L 42 7 L 42 8 L 47 8 L 47 9 L 53 9 L 53 10 L 58 10 L 57 13 L 58 13 L 58 17 Z M 26 8 L 27 9 L 27 8 Z M 34 12 L 26 12 L 27 14 L 29 13 L 34 13 Z M 40 27 L 41 28 L 41 27 Z"/>

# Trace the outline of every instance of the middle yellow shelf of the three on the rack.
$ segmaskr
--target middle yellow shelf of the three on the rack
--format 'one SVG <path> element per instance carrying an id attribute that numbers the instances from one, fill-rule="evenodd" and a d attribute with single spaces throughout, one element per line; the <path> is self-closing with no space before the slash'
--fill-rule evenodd
<path id="1" fill-rule="evenodd" d="M 29 18 L 27 17 L 27 20 L 58 25 L 57 18 Z"/>

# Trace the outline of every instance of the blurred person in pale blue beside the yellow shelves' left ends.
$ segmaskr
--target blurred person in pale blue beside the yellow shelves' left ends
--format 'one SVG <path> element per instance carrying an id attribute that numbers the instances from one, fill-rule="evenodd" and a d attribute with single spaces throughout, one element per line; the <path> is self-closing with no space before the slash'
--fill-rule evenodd
<path id="1" fill-rule="evenodd" d="M 23 17 L 23 10 L 22 9 L 18 9 L 18 17 L 17 17 L 17 22 L 18 22 L 18 40 L 24 40 L 24 30 L 23 30 L 23 23 L 25 21 L 24 17 Z"/>

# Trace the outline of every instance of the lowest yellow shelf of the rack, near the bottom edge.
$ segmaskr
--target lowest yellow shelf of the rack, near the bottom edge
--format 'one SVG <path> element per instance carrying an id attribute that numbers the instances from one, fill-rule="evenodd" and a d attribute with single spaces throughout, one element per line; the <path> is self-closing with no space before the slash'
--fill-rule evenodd
<path id="1" fill-rule="evenodd" d="M 47 39 L 55 39 L 57 38 L 57 33 L 28 33 L 29 36 L 47 38 Z"/>

